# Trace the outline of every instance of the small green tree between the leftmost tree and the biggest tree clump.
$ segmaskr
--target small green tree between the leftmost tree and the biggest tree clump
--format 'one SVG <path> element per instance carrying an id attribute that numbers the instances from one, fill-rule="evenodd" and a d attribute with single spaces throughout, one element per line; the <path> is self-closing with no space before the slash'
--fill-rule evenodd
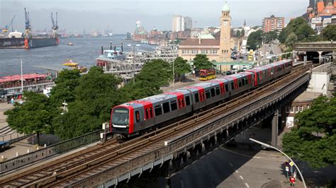
<path id="1" fill-rule="evenodd" d="M 56 86 L 52 88 L 50 100 L 55 107 L 60 107 L 62 102 L 74 101 L 74 89 L 79 83 L 79 70 L 63 70 L 55 80 Z"/>

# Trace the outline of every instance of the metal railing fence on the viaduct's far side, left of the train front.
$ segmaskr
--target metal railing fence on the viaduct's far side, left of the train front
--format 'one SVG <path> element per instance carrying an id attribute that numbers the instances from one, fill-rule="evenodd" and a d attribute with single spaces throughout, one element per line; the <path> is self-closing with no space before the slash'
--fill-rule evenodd
<path id="1" fill-rule="evenodd" d="M 99 141 L 100 134 L 102 131 L 103 130 L 93 131 L 89 134 L 84 134 L 82 136 L 78 136 L 74 139 L 69 139 L 67 141 L 62 141 L 60 143 L 55 143 L 46 148 L 41 148 L 37 151 L 33 151 L 31 153 L 20 155 L 16 158 L 11 158 L 10 160 L 1 162 L 0 163 L 0 175 L 4 175 L 4 173 L 6 172 L 9 172 L 11 170 L 16 170 L 25 165 L 35 163 L 38 160 L 50 158 L 53 155 L 65 153 L 67 151 L 73 150 L 74 148 L 79 148 L 80 146 L 93 143 L 94 141 Z"/>

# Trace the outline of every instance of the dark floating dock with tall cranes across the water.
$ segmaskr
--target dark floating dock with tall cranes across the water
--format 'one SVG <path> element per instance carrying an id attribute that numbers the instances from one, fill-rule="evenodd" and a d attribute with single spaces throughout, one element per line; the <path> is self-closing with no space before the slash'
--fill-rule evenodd
<path id="1" fill-rule="evenodd" d="M 25 8 L 25 18 L 26 18 L 26 33 L 12 32 L 9 33 L 7 38 L 0 38 L 0 49 L 4 48 L 36 48 L 36 47 L 48 47 L 59 45 L 60 40 L 57 35 L 58 25 L 57 25 L 57 12 L 56 12 L 56 22 L 51 13 L 52 20 L 52 36 L 51 37 L 33 37 L 31 34 L 30 18 L 29 12 Z"/>

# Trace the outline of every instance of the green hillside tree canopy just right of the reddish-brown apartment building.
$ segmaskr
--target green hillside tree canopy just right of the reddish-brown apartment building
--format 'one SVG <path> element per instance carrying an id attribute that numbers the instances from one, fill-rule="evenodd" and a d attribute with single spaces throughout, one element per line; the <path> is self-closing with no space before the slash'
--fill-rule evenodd
<path id="1" fill-rule="evenodd" d="M 310 35 L 315 34 L 314 30 L 310 28 L 307 21 L 303 17 L 298 17 L 289 22 L 289 24 L 284 28 L 279 34 L 279 40 L 281 43 L 286 43 L 287 38 L 293 34 L 296 35 L 297 41 L 303 41 L 308 38 Z M 289 45 L 293 45 L 291 42 Z M 287 44 L 286 44 L 287 45 Z"/>

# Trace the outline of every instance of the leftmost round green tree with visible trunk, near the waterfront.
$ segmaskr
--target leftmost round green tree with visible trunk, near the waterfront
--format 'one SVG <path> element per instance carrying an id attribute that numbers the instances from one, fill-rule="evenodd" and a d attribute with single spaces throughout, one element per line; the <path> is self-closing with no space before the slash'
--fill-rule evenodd
<path id="1" fill-rule="evenodd" d="M 53 132 L 52 118 L 57 113 L 50 105 L 50 100 L 42 93 L 24 91 L 26 101 L 15 103 L 14 108 L 5 112 L 9 126 L 25 134 L 36 134 L 40 145 L 40 134 Z"/>

